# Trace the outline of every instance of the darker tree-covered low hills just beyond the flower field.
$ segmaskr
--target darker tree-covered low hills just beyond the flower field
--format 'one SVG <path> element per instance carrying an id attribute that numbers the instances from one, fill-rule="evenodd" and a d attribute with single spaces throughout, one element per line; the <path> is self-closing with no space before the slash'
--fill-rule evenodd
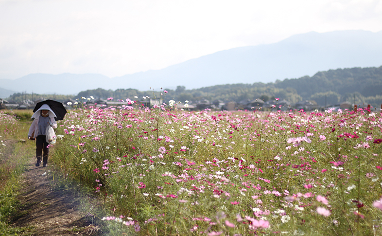
<path id="1" fill-rule="evenodd" d="M 200 101 L 235 101 L 239 104 L 247 104 L 249 101 L 260 99 L 265 101 L 287 100 L 292 105 L 299 101 L 310 100 L 320 107 L 335 106 L 339 102 L 350 102 L 365 106 L 371 104 L 379 108 L 382 104 L 382 66 L 368 68 L 347 68 L 318 72 L 312 77 L 303 76 L 298 79 L 285 79 L 275 83 L 253 83 L 253 84 L 226 84 L 187 90 L 184 86 L 178 86 L 176 90 L 164 88 L 168 93 L 153 91 L 139 91 L 135 89 L 118 90 L 86 90 L 77 95 L 45 95 L 43 99 L 54 99 L 66 101 L 69 98 L 96 97 L 106 99 L 113 97 L 119 99 L 142 99 L 150 96 L 162 97 L 164 102 L 170 99 L 175 101 L 190 101 L 195 104 Z M 24 99 L 40 98 L 41 95 L 15 93 L 9 97 L 9 101 L 21 102 Z M 306 103 L 306 102 L 304 102 Z"/>

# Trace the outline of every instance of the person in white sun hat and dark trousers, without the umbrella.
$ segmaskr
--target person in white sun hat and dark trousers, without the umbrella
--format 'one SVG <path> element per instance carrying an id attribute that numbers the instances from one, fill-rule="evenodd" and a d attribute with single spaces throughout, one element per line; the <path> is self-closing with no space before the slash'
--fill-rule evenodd
<path id="1" fill-rule="evenodd" d="M 45 130 L 47 126 L 57 128 L 57 123 L 54 120 L 56 114 L 52 111 L 49 105 L 44 104 L 32 115 L 35 118 L 28 132 L 28 139 L 36 140 L 36 166 L 40 166 L 41 156 L 43 157 L 43 166 L 48 163 L 49 144 L 46 141 Z M 44 154 L 43 154 L 44 153 Z"/>

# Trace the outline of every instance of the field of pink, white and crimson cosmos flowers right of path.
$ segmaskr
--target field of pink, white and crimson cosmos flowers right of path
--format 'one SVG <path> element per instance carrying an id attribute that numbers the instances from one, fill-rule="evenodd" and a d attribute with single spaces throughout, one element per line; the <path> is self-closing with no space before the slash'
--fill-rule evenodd
<path id="1" fill-rule="evenodd" d="M 382 235 L 380 112 L 130 102 L 69 112 L 53 147 L 111 235 Z"/>

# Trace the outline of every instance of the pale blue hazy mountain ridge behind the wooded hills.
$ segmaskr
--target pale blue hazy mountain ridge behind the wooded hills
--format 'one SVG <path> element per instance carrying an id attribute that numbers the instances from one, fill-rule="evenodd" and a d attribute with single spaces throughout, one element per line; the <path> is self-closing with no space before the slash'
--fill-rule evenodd
<path id="1" fill-rule="evenodd" d="M 29 74 L 0 79 L 0 88 L 28 93 L 77 94 L 80 91 L 149 88 L 196 89 L 219 84 L 269 83 L 318 71 L 382 65 L 382 31 L 334 31 L 291 36 L 278 43 L 220 51 L 162 70 L 109 78 L 101 74 Z"/>

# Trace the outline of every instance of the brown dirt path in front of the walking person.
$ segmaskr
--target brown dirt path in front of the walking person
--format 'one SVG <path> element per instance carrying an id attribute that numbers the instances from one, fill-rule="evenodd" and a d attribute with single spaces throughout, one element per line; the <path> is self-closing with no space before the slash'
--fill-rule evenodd
<path id="1" fill-rule="evenodd" d="M 18 196 L 21 207 L 11 220 L 15 227 L 30 227 L 34 236 L 98 236 L 101 230 L 93 218 L 78 210 L 80 198 L 73 191 L 54 186 L 50 167 L 35 167 L 35 158 L 23 173 L 23 188 Z"/>

